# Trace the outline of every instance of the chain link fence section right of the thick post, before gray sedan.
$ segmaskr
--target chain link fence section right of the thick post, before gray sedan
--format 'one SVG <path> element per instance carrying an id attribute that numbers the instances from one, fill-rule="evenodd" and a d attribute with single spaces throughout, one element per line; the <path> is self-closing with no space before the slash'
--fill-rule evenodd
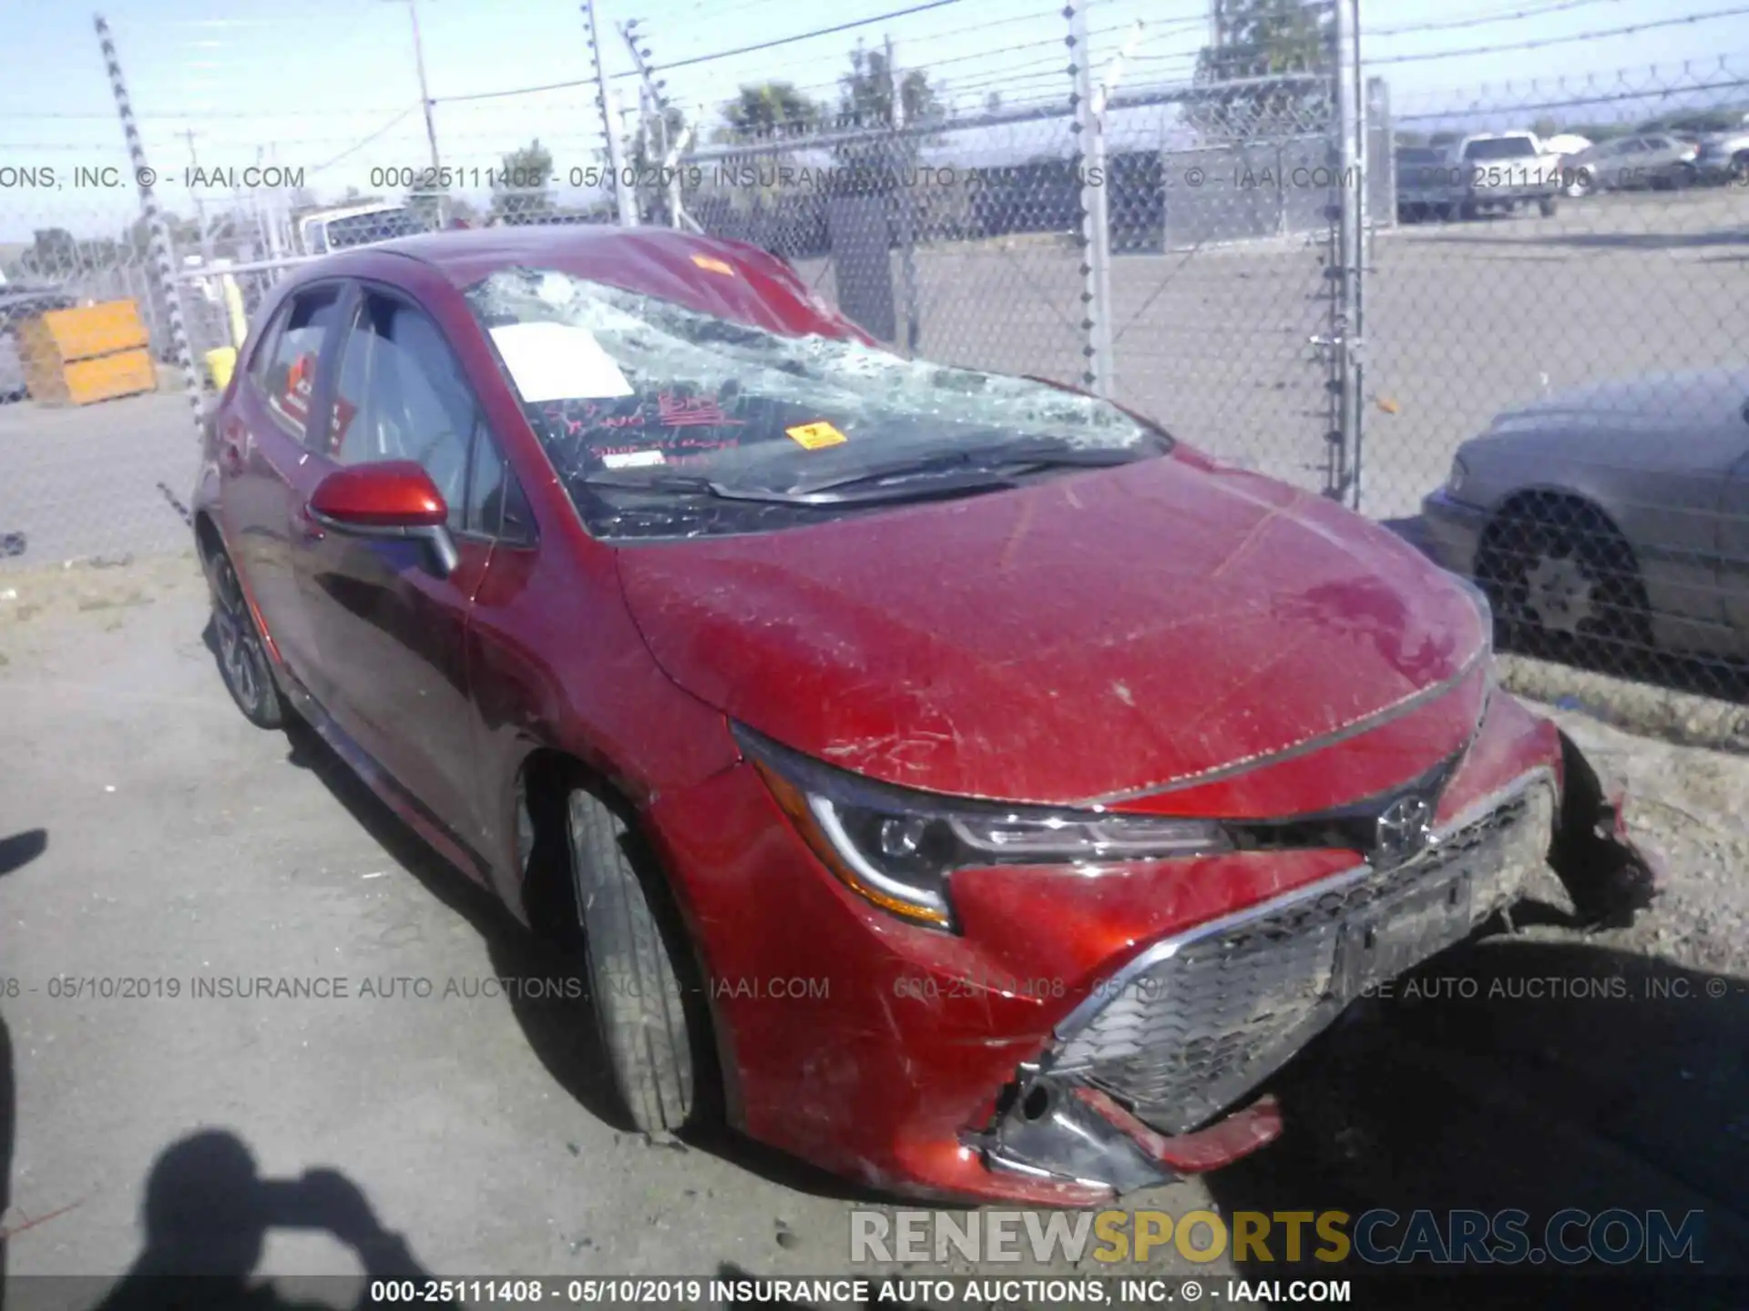
<path id="1" fill-rule="evenodd" d="M 1732 699 L 1746 110 L 1732 58 L 1399 98 L 1408 222 L 1366 271 L 1364 510 L 1474 577 L 1508 649 Z"/>

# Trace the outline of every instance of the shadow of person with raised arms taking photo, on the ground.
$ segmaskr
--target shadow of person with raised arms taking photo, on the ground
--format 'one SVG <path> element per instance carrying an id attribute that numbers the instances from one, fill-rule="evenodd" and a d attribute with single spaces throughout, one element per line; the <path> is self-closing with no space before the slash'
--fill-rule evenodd
<path id="1" fill-rule="evenodd" d="M 430 1278 L 350 1178 L 336 1169 L 261 1178 L 248 1147 L 222 1129 L 164 1148 L 145 1182 L 142 1218 L 145 1250 L 98 1311 L 327 1306 L 283 1299 L 271 1283 L 250 1278 L 273 1229 L 320 1231 L 350 1246 L 366 1276 L 359 1306 L 374 1306 L 374 1280 Z"/>

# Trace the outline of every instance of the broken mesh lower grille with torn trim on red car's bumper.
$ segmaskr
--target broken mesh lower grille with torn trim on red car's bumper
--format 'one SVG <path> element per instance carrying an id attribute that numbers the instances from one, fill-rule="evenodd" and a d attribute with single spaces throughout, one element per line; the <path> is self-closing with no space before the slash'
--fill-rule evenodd
<path id="1" fill-rule="evenodd" d="M 1114 1194 L 1231 1164 L 1282 1133 L 1272 1096 L 1233 1106 L 1350 1002 L 1509 912 L 1544 865 L 1585 925 L 1630 919 L 1656 884 L 1623 797 L 1565 734 L 1558 766 L 1431 830 L 1413 858 L 1361 864 L 1142 951 L 964 1143 L 990 1169 Z"/>

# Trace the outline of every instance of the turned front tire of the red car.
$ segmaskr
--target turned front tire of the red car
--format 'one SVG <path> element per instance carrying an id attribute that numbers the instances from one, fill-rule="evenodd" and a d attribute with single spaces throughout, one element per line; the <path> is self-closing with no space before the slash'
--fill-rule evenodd
<path id="1" fill-rule="evenodd" d="M 642 1133 L 679 1133 L 694 1117 L 701 1065 L 700 998 L 687 998 L 691 972 L 679 963 L 679 926 L 659 912 L 666 907 L 651 883 L 649 860 L 612 808 L 586 788 L 572 788 L 565 825 L 589 989 L 614 1086 Z"/>

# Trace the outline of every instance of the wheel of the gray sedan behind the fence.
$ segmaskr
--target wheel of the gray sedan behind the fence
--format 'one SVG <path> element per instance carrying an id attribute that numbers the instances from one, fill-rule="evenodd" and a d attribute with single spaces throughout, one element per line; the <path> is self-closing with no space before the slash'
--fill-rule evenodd
<path id="1" fill-rule="evenodd" d="M 1590 505 L 1543 502 L 1502 514 L 1483 535 L 1476 582 L 1502 647 L 1583 647 L 1613 668 L 1637 666 L 1653 649 L 1634 551 Z"/>

